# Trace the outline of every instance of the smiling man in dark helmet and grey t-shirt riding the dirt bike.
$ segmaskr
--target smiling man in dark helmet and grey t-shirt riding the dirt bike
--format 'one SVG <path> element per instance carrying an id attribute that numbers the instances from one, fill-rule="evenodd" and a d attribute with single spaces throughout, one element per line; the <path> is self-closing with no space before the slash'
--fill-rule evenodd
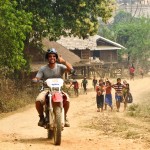
<path id="1" fill-rule="evenodd" d="M 48 60 L 48 64 L 42 66 L 35 78 L 32 79 L 33 82 L 37 82 L 40 79 L 46 80 L 48 78 L 62 78 L 65 72 L 72 72 L 73 67 L 70 63 L 64 60 L 61 56 L 58 56 L 57 51 L 54 48 L 50 48 L 47 50 L 45 54 L 45 58 Z M 38 126 L 43 127 L 45 124 L 44 117 L 44 104 L 46 98 L 47 91 L 42 91 L 36 98 L 35 106 L 36 110 L 39 114 L 40 120 L 38 122 Z M 69 97 L 66 95 L 66 100 L 64 102 L 64 111 L 65 111 L 65 126 L 69 127 L 70 124 L 67 119 L 67 112 L 69 109 Z"/>

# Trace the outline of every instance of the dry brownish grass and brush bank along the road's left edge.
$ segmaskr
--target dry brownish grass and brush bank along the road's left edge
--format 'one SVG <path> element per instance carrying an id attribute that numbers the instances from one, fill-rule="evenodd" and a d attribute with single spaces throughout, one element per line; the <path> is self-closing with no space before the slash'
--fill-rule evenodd
<path id="1" fill-rule="evenodd" d="M 10 112 L 34 103 L 37 96 L 37 86 L 22 84 L 20 87 L 14 83 L 4 86 L 0 90 L 0 113 Z"/>

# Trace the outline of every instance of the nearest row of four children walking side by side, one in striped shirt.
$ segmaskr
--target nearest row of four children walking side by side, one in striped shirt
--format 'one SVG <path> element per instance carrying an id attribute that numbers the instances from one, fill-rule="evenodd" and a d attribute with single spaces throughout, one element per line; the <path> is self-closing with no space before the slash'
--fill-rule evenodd
<path id="1" fill-rule="evenodd" d="M 107 106 L 113 110 L 112 104 L 112 88 L 115 90 L 115 100 L 117 112 L 120 110 L 120 103 L 124 103 L 124 111 L 126 110 L 128 103 L 128 96 L 130 93 L 129 83 L 126 80 L 121 83 L 121 78 L 117 79 L 116 84 L 111 84 L 111 82 L 106 79 L 100 79 L 98 84 L 95 86 L 96 91 L 96 102 L 97 102 L 97 111 L 102 112 L 104 109 L 107 109 Z"/>

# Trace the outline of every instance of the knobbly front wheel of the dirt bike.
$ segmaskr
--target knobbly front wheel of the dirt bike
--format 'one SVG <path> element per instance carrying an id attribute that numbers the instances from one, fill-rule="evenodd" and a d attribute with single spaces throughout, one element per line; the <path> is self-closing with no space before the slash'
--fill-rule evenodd
<path id="1" fill-rule="evenodd" d="M 55 123 L 54 123 L 54 144 L 61 144 L 61 131 L 62 131 L 62 122 L 61 122 L 61 107 L 56 106 L 54 108 L 55 114 Z"/>

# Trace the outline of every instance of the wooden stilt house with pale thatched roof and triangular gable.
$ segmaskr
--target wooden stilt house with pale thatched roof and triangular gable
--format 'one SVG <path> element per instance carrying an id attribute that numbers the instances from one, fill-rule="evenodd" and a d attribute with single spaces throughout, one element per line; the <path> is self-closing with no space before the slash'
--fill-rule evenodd
<path id="1" fill-rule="evenodd" d="M 101 70 L 103 73 L 104 68 L 108 70 L 110 66 L 118 64 L 118 50 L 125 49 L 99 35 L 89 36 L 84 40 L 78 37 L 61 37 L 57 42 L 80 57 L 81 61 L 75 67 L 84 76 L 90 76 L 89 70 Z"/>

